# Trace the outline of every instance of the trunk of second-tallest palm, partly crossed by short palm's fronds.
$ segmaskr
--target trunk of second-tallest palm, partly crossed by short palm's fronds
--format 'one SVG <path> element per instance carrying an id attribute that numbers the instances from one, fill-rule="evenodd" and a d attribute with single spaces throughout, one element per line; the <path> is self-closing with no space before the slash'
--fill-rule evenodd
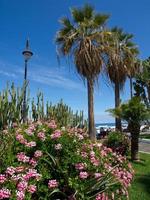
<path id="1" fill-rule="evenodd" d="M 118 83 L 115 83 L 115 108 L 120 105 L 120 87 Z M 122 131 L 121 119 L 115 118 L 116 130 Z"/>

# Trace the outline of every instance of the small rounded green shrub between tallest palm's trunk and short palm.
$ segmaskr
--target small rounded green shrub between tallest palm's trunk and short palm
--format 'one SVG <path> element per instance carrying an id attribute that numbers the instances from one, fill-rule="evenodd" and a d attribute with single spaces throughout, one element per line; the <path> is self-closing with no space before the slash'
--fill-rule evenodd
<path id="1" fill-rule="evenodd" d="M 113 151 L 121 154 L 128 155 L 130 148 L 130 141 L 124 133 L 121 132 L 111 132 L 109 133 L 107 139 L 104 144 L 108 148 L 112 148 Z"/>

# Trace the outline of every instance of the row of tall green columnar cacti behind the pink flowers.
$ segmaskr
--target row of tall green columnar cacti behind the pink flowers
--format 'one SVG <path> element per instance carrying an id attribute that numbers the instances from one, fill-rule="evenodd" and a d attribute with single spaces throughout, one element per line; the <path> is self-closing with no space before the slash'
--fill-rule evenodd
<path id="1" fill-rule="evenodd" d="M 16 88 L 12 83 L 7 84 L 5 90 L 0 93 L 0 129 L 11 127 L 13 123 L 23 122 L 23 95 L 24 89 Z M 28 89 L 29 91 L 29 89 Z M 27 95 L 26 112 L 28 119 L 33 121 L 43 119 L 55 119 L 60 126 L 83 126 L 86 125 L 83 111 L 74 112 L 61 99 L 57 104 L 52 102 L 44 103 L 44 95 L 38 91 L 36 98 L 30 101 L 30 94 Z"/>

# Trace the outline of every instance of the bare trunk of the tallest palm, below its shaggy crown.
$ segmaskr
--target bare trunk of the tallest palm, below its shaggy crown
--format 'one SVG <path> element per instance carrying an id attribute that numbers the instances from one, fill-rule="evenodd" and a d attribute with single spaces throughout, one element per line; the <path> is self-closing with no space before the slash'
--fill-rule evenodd
<path id="1" fill-rule="evenodd" d="M 88 89 L 88 129 L 91 140 L 96 140 L 95 124 L 94 124 L 94 102 L 93 93 L 94 85 L 93 80 L 87 79 Z"/>

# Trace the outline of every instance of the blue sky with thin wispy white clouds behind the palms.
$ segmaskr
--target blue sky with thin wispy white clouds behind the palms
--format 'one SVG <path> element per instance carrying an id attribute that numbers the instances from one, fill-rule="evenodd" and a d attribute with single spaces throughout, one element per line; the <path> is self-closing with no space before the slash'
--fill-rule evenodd
<path id="1" fill-rule="evenodd" d="M 22 85 L 24 59 L 21 53 L 29 37 L 34 53 L 28 66 L 31 95 L 35 96 L 40 89 L 45 100 L 55 103 L 63 98 L 74 110 L 83 109 L 87 114 L 86 86 L 73 64 L 68 66 L 62 60 L 58 65 L 54 42 L 60 28 L 58 20 L 70 17 L 69 8 L 84 3 L 91 3 L 97 12 L 109 13 L 108 25 L 133 33 L 141 51 L 140 58 L 150 56 L 149 0 L 0 0 L 0 90 L 5 88 L 6 81 Z M 128 98 L 127 82 L 122 99 Z M 113 121 L 105 113 L 113 106 L 113 89 L 101 78 L 99 87 L 95 88 L 96 122 Z"/>

